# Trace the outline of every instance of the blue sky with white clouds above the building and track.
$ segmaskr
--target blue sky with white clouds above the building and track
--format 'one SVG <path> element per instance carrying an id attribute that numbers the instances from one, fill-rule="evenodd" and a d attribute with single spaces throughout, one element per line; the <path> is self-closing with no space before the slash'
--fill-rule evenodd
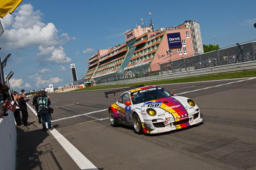
<path id="1" fill-rule="evenodd" d="M 14 72 L 11 88 L 20 91 L 55 87 L 72 82 L 88 69 L 97 50 L 125 42 L 124 32 L 149 25 L 176 26 L 185 20 L 200 23 L 203 44 L 220 47 L 256 39 L 256 1 L 35 1 L 23 0 L 12 15 L 0 19 L 1 60 L 11 53 L 4 74 Z"/>

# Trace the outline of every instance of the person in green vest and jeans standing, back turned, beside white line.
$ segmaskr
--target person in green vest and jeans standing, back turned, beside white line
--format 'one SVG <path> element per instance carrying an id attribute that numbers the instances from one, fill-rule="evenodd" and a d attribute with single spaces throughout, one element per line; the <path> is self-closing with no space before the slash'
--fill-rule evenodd
<path id="1" fill-rule="evenodd" d="M 46 128 L 45 122 L 47 122 L 49 129 L 53 129 L 51 125 L 51 114 L 49 113 L 49 106 L 51 105 L 51 101 L 49 97 L 46 96 L 45 91 L 43 91 L 42 95 L 38 97 L 37 103 L 38 103 L 39 115 L 42 118 L 43 130 L 44 131 L 48 130 Z"/>

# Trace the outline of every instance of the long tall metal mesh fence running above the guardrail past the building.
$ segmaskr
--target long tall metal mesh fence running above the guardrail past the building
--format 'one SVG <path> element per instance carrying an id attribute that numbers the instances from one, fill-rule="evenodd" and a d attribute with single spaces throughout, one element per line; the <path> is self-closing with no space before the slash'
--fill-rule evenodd
<path id="1" fill-rule="evenodd" d="M 134 66 L 126 69 L 121 73 L 111 73 L 105 76 L 95 77 L 99 83 L 107 83 L 111 81 L 127 80 L 132 78 L 142 78 L 151 75 L 156 75 L 156 72 L 150 71 L 154 67 L 159 67 L 157 74 L 178 73 L 181 71 L 192 71 L 207 67 L 223 66 L 227 64 L 235 64 L 256 60 L 256 41 L 246 43 L 237 43 L 236 45 L 221 48 L 213 52 L 207 52 L 193 57 L 182 58 L 179 60 L 169 60 L 169 62 L 154 64 L 145 64 L 142 66 Z M 149 70 L 149 71 L 148 71 Z"/>

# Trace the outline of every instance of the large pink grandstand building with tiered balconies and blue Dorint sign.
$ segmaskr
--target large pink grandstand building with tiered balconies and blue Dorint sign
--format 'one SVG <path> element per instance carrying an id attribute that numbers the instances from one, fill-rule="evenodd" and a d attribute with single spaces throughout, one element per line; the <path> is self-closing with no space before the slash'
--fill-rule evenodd
<path id="1" fill-rule="evenodd" d="M 204 53 L 200 25 L 187 20 L 176 27 L 138 25 L 125 32 L 125 43 L 98 50 L 89 58 L 85 81 L 120 80 L 159 71 L 161 64 Z"/>

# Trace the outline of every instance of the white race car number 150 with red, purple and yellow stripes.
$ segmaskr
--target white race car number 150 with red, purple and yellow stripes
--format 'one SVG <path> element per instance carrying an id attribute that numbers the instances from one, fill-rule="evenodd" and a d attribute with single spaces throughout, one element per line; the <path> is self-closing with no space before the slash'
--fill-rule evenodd
<path id="1" fill-rule="evenodd" d="M 105 96 L 122 92 L 109 111 L 110 124 L 134 127 L 137 134 L 174 131 L 203 122 L 195 101 L 175 96 L 158 85 L 143 85 L 105 92 Z"/>

